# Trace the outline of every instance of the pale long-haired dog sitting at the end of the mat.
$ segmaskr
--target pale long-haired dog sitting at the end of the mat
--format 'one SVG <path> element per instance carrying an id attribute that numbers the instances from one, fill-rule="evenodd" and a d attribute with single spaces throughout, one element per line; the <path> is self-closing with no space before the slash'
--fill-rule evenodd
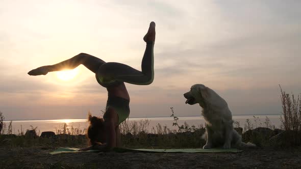
<path id="1" fill-rule="evenodd" d="M 254 147 L 254 144 L 241 142 L 241 136 L 233 129 L 232 113 L 228 103 L 212 89 L 202 84 L 193 85 L 184 94 L 186 104 L 198 103 L 202 107 L 206 133 L 203 138 L 206 144 L 203 149 L 222 147 L 224 149 Z"/>

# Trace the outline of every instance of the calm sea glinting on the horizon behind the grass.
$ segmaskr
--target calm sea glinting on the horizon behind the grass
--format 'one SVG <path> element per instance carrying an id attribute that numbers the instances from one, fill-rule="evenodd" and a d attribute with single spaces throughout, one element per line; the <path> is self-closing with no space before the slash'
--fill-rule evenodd
<path id="1" fill-rule="evenodd" d="M 205 126 L 205 121 L 202 116 L 189 116 L 189 117 L 178 117 L 177 123 L 181 126 L 186 122 L 187 125 L 200 127 Z M 253 125 L 253 128 L 256 127 L 266 127 L 274 126 L 275 128 L 281 127 L 281 115 L 233 115 L 233 121 L 236 123 L 234 126 L 240 126 L 244 128 L 249 122 L 250 125 Z M 148 126 L 146 130 L 151 133 L 156 129 L 156 126 L 160 124 L 162 127 L 166 126 L 170 130 L 178 130 L 177 126 L 173 126 L 174 118 L 173 117 L 147 117 L 147 118 L 129 118 L 128 123 L 140 121 L 147 121 Z M 8 129 L 10 121 L 4 121 L 6 126 L 6 131 Z M 70 131 L 71 128 L 78 129 L 78 131 L 84 130 L 89 126 L 87 119 L 57 119 L 57 120 L 13 120 L 12 121 L 12 133 L 20 134 L 21 132 L 25 133 L 28 129 L 36 128 L 37 133 L 42 133 L 43 131 L 53 131 L 58 133 L 62 132 L 63 126 L 66 126 Z"/>

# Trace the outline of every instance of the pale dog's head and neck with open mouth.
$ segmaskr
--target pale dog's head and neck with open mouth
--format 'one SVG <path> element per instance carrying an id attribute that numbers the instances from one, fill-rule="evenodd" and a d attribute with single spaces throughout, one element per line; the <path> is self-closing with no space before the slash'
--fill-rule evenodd
<path id="1" fill-rule="evenodd" d="M 225 102 L 218 94 L 202 84 L 193 85 L 190 88 L 190 91 L 184 94 L 184 97 L 187 99 L 185 102 L 186 104 L 193 105 L 198 103 L 203 108 L 209 104 L 215 107 L 228 106 L 227 102 Z"/>

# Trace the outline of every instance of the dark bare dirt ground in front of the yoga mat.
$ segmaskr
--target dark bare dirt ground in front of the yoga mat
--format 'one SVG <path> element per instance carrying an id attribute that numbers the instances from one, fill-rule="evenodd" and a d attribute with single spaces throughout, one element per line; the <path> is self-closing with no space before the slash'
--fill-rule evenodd
<path id="1" fill-rule="evenodd" d="M 66 153 L 0 147 L 0 168 L 301 168 L 301 148 L 241 153 Z"/>

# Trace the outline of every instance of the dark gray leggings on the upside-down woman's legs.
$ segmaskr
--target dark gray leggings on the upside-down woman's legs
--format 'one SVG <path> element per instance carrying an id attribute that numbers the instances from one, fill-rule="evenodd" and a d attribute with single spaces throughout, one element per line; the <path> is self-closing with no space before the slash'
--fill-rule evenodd
<path id="1" fill-rule="evenodd" d="M 49 65 L 47 68 L 48 72 L 53 72 L 63 69 L 74 69 L 81 64 L 94 72 L 98 83 L 104 87 L 120 82 L 128 82 L 134 85 L 149 85 L 154 80 L 154 42 L 146 43 L 141 71 L 121 63 L 106 63 L 87 53 L 80 53 L 66 61 Z"/>

